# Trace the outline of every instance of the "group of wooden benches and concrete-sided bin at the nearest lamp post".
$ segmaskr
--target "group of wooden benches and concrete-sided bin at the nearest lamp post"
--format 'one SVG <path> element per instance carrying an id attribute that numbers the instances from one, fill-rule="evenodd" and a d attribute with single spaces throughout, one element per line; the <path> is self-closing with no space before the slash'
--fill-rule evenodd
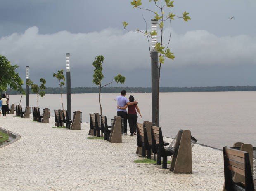
<path id="1" fill-rule="evenodd" d="M 167 168 L 167 157 L 172 156 L 170 171 L 174 173 L 192 173 L 192 147 L 197 140 L 189 130 L 179 130 L 171 143 L 163 140 L 161 127 L 152 126 L 152 122 L 137 123 L 137 153 L 141 147 L 142 157 L 151 158 L 157 154 L 156 164 Z M 169 146 L 168 146 L 169 145 Z M 165 147 L 168 146 L 168 147 Z"/>

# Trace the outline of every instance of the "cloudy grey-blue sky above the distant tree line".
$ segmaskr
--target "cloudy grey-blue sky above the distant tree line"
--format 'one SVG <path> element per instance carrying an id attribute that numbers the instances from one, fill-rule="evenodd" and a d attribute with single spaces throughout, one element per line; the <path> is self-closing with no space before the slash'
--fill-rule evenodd
<path id="1" fill-rule="evenodd" d="M 133 9 L 130 1 L 0 0 L 0 54 L 19 66 L 24 81 L 29 66 L 29 79 L 39 84 L 44 78 L 47 87 L 58 86 L 52 77 L 57 70 L 66 75 L 66 53 L 71 87 L 96 87 L 92 62 L 98 55 L 105 58 L 103 85 L 121 74 L 126 82 L 109 86 L 151 87 L 147 37 L 124 30 L 122 22 L 145 31 L 154 15 Z M 141 8 L 158 11 L 148 0 Z M 255 9 L 255 0 L 174 1 L 165 13 L 186 11 L 191 20 L 175 17 L 164 25 L 164 43 L 171 31 L 175 59 L 161 66 L 160 86 L 255 86 Z"/>

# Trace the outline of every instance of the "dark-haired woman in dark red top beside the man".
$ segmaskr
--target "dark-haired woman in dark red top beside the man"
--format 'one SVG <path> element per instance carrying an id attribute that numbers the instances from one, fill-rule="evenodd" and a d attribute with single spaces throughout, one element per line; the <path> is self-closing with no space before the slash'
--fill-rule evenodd
<path id="1" fill-rule="evenodd" d="M 132 95 L 130 95 L 129 97 L 129 102 L 134 102 L 134 97 Z M 140 113 L 140 109 L 137 104 L 134 104 L 134 105 L 126 104 L 124 107 L 120 107 L 119 105 L 117 106 L 117 108 L 120 108 L 120 109 L 126 109 L 127 107 L 128 107 L 128 123 L 130 127 L 130 136 L 133 136 L 133 135 L 136 135 L 137 119 L 138 119 L 137 112 L 140 114 L 140 117 L 142 117 L 142 115 Z"/>

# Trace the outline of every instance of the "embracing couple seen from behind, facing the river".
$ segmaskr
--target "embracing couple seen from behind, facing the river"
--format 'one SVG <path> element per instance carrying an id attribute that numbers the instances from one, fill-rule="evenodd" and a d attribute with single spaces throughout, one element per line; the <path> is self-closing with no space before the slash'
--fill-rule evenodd
<path id="1" fill-rule="evenodd" d="M 117 96 L 115 100 L 117 101 L 117 116 L 123 118 L 123 135 L 127 135 L 127 119 L 130 127 L 130 135 L 136 135 L 137 129 L 137 112 L 140 114 L 140 109 L 138 107 L 138 102 L 134 101 L 134 97 L 130 95 L 129 100 L 125 97 L 126 91 L 122 90 L 121 95 Z M 128 114 L 126 108 L 128 107 Z M 136 112 L 137 109 L 137 112 Z M 141 114 L 140 114 L 140 117 Z"/>

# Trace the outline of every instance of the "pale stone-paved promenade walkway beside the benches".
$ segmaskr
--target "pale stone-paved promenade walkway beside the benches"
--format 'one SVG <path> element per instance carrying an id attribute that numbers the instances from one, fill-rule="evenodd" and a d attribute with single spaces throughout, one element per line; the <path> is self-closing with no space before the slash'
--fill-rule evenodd
<path id="1" fill-rule="evenodd" d="M 82 123 L 81 130 L 52 128 L 54 124 L 53 117 L 50 123 L 14 115 L 0 117 L 2 128 L 21 136 L 0 148 L 1 191 L 222 190 L 223 156 L 219 150 L 196 144 L 193 174 L 173 174 L 156 165 L 134 163 L 140 159 L 135 153 L 135 136 L 109 143 L 88 139 L 88 123 Z"/>

